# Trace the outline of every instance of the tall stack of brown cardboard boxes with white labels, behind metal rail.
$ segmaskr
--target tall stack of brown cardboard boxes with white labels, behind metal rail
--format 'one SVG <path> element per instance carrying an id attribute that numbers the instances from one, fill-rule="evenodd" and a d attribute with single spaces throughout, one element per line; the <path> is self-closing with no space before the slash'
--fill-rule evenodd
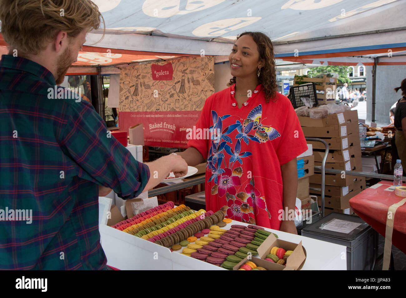
<path id="1" fill-rule="evenodd" d="M 329 146 L 326 169 L 362 172 L 361 145 L 358 133 L 357 111 L 330 114 L 323 119 L 299 116 L 305 137 L 324 139 Z M 313 146 L 314 165 L 321 166 L 325 146 L 321 142 L 309 142 Z M 309 187 L 321 188 L 322 176 L 315 172 L 309 178 Z M 325 214 L 330 212 L 349 213 L 350 198 L 365 189 L 365 177 L 341 174 L 325 174 Z M 321 207 L 321 192 L 310 191 L 316 195 Z"/>

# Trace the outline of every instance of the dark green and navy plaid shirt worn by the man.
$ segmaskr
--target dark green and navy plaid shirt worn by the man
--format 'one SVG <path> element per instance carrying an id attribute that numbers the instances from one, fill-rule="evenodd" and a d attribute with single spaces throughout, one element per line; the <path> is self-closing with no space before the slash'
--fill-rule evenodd
<path id="1" fill-rule="evenodd" d="M 43 66 L 2 56 L 0 269 L 104 269 L 98 184 L 130 199 L 149 179 L 92 105 L 52 99 L 55 85 Z"/>

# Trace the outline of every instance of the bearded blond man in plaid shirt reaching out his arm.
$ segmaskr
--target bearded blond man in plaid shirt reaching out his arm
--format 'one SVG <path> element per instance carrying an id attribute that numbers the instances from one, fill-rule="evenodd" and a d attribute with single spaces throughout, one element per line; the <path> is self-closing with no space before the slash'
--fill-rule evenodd
<path id="1" fill-rule="evenodd" d="M 106 269 L 98 196 L 130 199 L 187 170 L 175 155 L 137 162 L 57 86 L 102 20 L 90 0 L 0 0 L 0 269 Z"/>

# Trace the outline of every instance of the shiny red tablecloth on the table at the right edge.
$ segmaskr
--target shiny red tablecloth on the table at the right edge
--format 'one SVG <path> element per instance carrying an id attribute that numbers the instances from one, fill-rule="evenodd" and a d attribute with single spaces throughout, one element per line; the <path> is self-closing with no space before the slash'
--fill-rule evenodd
<path id="1" fill-rule="evenodd" d="M 382 236 L 385 236 L 389 206 L 404 199 L 395 195 L 395 191 L 385 190 L 391 186 L 393 181 L 382 180 L 350 199 L 354 212 Z M 406 204 L 396 210 L 392 244 L 406 253 Z"/>

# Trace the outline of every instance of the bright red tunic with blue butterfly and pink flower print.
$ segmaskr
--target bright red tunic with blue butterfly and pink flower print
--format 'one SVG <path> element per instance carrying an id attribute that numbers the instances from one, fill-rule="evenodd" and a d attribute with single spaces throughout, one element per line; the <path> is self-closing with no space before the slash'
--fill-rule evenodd
<path id="1" fill-rule="evenodd" d="M 286 96 L 266 103 L 259 85 L 239 109 L 234 86 L 209 96 L 188 141 L 207 157 L 206 208 L 279 230 L 281 165 L 306 151 L 306 140 Z M 207 129 L 210 137 L 199 134 Z"/>

